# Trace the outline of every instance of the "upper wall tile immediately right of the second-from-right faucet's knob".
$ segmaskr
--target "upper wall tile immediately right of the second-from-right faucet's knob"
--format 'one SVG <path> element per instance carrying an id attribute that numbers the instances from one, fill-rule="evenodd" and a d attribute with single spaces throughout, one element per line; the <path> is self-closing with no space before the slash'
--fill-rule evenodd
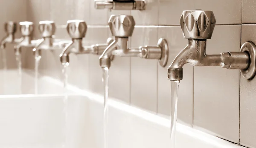
<path id="1" fill-rule="evenodd" d="M 145 10 L 132 10 L 136 25 L 158 25 L 158 0 L 146 0 Z"/>

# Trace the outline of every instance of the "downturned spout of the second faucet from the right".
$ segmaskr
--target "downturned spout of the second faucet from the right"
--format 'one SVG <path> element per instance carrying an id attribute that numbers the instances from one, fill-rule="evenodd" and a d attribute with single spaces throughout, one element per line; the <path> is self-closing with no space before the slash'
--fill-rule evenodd
<path id="1" fill-rule="evenodd" d="M 108 47 L 105 49 L 105 51 L 102 53 L 102 55 L 99 57 L 99 65 L 102 68 L 110 67 L 111 66 L 111 56 L 113 50 L 116 50 L 118 46 L 118 41 L 114 40 L 111 44 L 108 45 Z"/>

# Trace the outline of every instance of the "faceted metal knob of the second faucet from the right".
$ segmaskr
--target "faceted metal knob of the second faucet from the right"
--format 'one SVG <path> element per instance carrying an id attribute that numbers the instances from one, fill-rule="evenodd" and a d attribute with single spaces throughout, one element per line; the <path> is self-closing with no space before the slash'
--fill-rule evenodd
<path id="1" fill-rule="evenodd" d="M 134 31 L 135 21 L 131 15 L 111 15 L 108 25 L 113 36 L 130 37 Z"/>

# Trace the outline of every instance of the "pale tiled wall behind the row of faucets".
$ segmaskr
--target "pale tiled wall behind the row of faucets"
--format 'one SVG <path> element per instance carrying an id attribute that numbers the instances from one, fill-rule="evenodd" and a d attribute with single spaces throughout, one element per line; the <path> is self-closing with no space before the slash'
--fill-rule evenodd
<path id="1" fill-rule="evenodd" d="M 216 23 L 212 39 L 207 41 L 207 53 L 219 54 L 225 51 L 239 51 L 240 43 L 256 42 L 255 0 L 147 0 L 145 11 L 112 11 L 94 9 L 93 0 L 6 0 L 1 5 L 6 14 L 0 16 L 12 20 L 55 20 L 58 25 L 56 38 L 69 36 L 63 26 L 69 19 L 83 19 L 89 28 L 85 44 L 105 43 L 110 35 L 108 18 L 112 14 L 133 15 L 137 25 L 131 37 L 132 47 L 155 45 L 158 38 L 166 38 L 169 43 L 169 61 L 186 46 L 179 27 L 183 10 L 212 10 Z M 0 6 L 0 8 L 1 8 Z M 16 14 L 20 15 L 16 15 Z M 8 14 L 8 15 L 7 15 Z M 11 15 L 10 15 L 11 14 Z M 26 15 L 27 14 L 27 15 Z M 8 16 L 8 17 L 6 17 Z M 22 16 L 22 17 L 20 17 Z M 237 25 L 234 25 L 237 24 Z M 95 28 L 102 25 L 100 28 Z M 163 25 L 163 26 L 154 26 Z M 37 29 L 36 29 L 37 30 Z M 0 30 L 0 33 L 3 31 Z M 38 31 L 35 37 L 39 38 Z M 13 52 L 9 50 L 8 62 L 13 63 Z M 61 51 L 43 52 L 40 69 L 42 73 L 62 78 L 58 54 Z M 71 55 L 69 83 L 102 93 L 101 70 L 97 55 Z M 26 50 L 26 64 L 34 68 L 32 52 Z M 15 67 L 15 64 L 12 64 Z M 116 57 L 110 69 L 109 95 L 124 102 L 143 107 L 160 114 L 169 115 L 170 84 L 167 68 L 160 67 L 156 60 Z M 254 79 L 239 81 L 238 70 L 224 70 L 220 67 L 184 67 L 184 80 L 180 83 L 178 118 L 180 122 L 192 124 L 203 131 L 214 134 L 231 142 L 253 148 L 256 147 L 256 115 Z M 239 87 L 241 83 L 241 88 Z M 239 89 L 241 94 L 239 94 Z M 239 96 L 240 95 L 240 96 Z M 239 107 L 239 98 L 241 103 Z M 240 137 L 239 137 L 240 110 Z"/>

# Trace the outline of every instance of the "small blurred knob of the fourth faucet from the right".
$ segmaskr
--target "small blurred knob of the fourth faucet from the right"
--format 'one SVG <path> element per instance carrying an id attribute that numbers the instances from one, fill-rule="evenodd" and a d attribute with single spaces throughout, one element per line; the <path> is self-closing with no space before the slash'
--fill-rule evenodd
<path id="1" fill-rule="evenodd" d="M 56 26 L 54 21 L 45 20 L 39 22 L 38 28 L 42 37 L 52 37 L 55 33 Z"/>

